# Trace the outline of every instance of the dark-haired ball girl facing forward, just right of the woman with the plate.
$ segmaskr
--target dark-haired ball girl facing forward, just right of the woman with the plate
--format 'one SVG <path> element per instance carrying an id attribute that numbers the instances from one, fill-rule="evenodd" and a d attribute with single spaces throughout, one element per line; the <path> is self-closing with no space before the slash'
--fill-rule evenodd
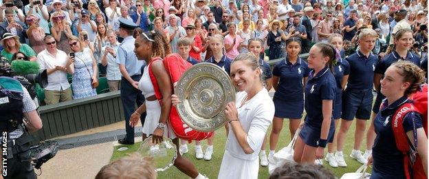
<path id="1" fill-rule="evenodd" d="M 274 154 L 280 131 L 283 127 L 283 118 L 289 118 L 289 131 L 294 136 L 303 117 L 304 95 L 303 89 L 309 73 L 307 63 L 300 59 L 301 41 L 296 37 L 285 42 L 287 56 L 278 62 L 273 69 L 272 83 L 276 93 L 274 94 L 273 127 L 270 134 L 270 155 Z"/>

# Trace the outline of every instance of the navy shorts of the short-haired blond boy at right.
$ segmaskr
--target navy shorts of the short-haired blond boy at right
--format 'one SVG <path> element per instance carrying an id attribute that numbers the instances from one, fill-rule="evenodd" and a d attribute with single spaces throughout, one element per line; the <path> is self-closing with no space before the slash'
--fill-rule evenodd
<path id="1" fill-rule="evenodd" d="M 371 89 L 346 89 L 342 94 L 342 114 L 344 120 L 369 120 L 373 104 Z"/>

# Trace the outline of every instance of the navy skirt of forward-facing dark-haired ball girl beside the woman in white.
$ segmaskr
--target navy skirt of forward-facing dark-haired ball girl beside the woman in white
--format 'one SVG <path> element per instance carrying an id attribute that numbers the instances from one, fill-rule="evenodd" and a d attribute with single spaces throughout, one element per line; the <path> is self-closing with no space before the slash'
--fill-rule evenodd
<path id="1" fill-rule="evenodd" d="M 278 118 L 302 118 L 304 112 L 304 101 L 289 101 L 273 98 L 276 112 L 274 116 Z"/>

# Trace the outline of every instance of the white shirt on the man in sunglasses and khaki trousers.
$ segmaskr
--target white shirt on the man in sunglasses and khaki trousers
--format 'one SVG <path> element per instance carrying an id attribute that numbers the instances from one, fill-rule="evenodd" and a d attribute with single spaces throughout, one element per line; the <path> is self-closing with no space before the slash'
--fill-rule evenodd
<path id="1" fill-rule="evenodd" d="M 43 50 L 37 54 L 37 63 L 39 63 L 41 70 L 51 69 L 55 66 L 65 67 L 67 65 L 67 54 L 57 49 L 56 56 L 54 56 L 47 50 Z M 61 91 L 70 87 L 69 81 L 67 81 L 67 73 L 60 70 L 48 74 L 47 82 L 47 87 L 45 87 L 47 90 Z"/>

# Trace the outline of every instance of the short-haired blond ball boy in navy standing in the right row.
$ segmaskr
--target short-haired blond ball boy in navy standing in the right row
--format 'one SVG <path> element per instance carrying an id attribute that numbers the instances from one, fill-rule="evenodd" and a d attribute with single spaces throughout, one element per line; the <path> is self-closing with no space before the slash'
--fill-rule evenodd
<path id="1" fill-rule="evenodd" d="M 337 162 L 344 164 L 342 167 L 347 166 L 342 155 L 344 138 L 355 117 L 357 119 L 355 143 L 350 157 L 362 164 L 366 163 L 366 158 L 362 156 L 362 151 L 360 151 L 360 145 L 365 132 L 366 120 L 371 117 L 374 70 L 377 64 L 377 56 L 371 51 L 375 46 L 377 36 L 375 30 L 362 29 L 358 36 L 360 50 L 346 58 L 350 64 L 350 74 L 347 88 L 342 94 L 342 120 L 337 137 L 338 156 L 336 155 Z"/>

